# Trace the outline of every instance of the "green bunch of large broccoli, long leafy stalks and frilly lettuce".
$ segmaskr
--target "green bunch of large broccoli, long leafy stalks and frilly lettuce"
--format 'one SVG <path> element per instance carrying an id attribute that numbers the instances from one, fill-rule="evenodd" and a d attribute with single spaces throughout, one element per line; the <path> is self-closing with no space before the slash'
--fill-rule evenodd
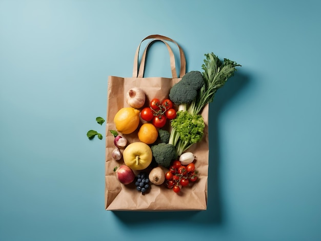
<path id="1" fill-rule="evenodd" d="M 224 61 L 213 53 L 205 54 L 202 69 L 204 72 L 191 71 L 175 84 L 169 98 L 178 105 L 177 117 L 171 121 L 169 144 L 175 146 L 181 155 L 203 137 L 205 123 L 203 108 L 213 101 L 216 91 L 223 87 L 228 78 L 236 71 L 236 62 L 225 58 Z"/>

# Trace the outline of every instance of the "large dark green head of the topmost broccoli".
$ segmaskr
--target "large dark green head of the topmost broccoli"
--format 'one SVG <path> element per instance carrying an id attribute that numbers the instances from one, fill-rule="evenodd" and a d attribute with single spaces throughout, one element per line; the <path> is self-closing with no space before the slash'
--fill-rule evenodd
<path id="1" fill-rule="evenodd" d="M 205 84 L 203 75 L 199 71 L 191 71 L 185 74 L 169 92 L 169 98 L 176 105 L 189 104 L 197 96 L 197 90 Z"/>

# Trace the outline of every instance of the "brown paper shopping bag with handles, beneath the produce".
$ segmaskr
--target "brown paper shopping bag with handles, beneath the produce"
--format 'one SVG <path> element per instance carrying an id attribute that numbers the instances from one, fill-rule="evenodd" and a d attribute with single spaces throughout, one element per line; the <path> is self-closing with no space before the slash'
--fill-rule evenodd
<path id="1" fill-rule="evenodd" d="M 138 56 L 141 44 L 146 39 L 153 41 L 162 41 L 168 48 L 170 53 L 170 62 L 172 70 L 172 78 L 164 77 L 143 77 L 146 54 L 149 47 L 147 45 L 138 71 Z M 112 158 L 114 150 L 114 136 L 110 130 L 116 130 L 113 118 L 117 111 L 123 107 L 130 107 L 126 102 L 126 93 L 132 87 L 142 88 L 146 93 L 147 107 L 151 99 L 158 98 L 162 101 L 168 98 L 171 87 L 180 81 L 181 77 L 186 73 L 186 60 L 183 50 L 171 38 L 161 35 L 150 35 L 143 39 L 135 53 L 133 77 L 116 77 L 108 78 L 108 105 L 107 105 L 107 122 L 106 122 L 106 188 L 105 188 L 105 207 L 106 210 L 128 210 L 128 211 L 174 211 L 174 210 L 206 210 L 207 208 L 207 178 L 208 178 L 208 105 L 203 110 L 205 121 L 204 136 L 201 142 L 194 144 L 189 151 L 196 155 L 195 169 L 198 171 L 198 179 L 191 187 L 184 187 L 179 194 L 168 189 L 165 185 L 151 185 L 148 193 L 142 194 L 137 191 L 135 185 L 123 185 L 118 182 L 113 171 L 114 167 L 124 164 L 123 159 L 116 161 Z M 174 43 L 179 50 L 180 71 L 177 77 L 175 58 L 171 47 L 166 43 L 170 41 Z M 143 107 L 143 108 L 144 108 Z M 142 120 L 141 120 L 142 124 Z M 170 124 L 166 125 L 170 130 Z M 137 130 L 139 127 L 137 128 Z M 124 135 L 129 143 L 139 142 L 137 130 L 131 134 Z M 119 133 L 121 134 L 121 133 Z M 139 172 L 139 171 L 138 171 Z M 135 174 L 138 174 L 135 171 Z"/>

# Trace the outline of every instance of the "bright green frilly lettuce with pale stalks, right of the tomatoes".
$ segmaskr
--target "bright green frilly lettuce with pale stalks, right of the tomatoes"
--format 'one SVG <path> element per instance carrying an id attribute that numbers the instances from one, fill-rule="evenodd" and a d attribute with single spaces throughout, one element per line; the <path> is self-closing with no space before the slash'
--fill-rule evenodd
<path id="1" fill-rule="evenodd" d="M 169 144 L 175 146 L 177 155 L 181 155 L 190 146 L 202 140 L 205 123 L 202 115 L 193 115 L 188 111 L 177 111 L 172 119 L 173 128 Z"/>

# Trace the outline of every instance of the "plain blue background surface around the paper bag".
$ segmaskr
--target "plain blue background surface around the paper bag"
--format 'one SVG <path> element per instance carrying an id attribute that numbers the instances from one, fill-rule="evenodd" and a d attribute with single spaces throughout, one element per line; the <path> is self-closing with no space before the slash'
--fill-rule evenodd
<path id="1" fill-rule="evenodd" d="M 0 240 L 321 240 L 319 1 L 0 1 Z M 175 39 L 242 65 L 210 104 L 208 210 L 104 209 L 108 75 Z M 170 76 L 162 43 L 146 76 Z"/>

